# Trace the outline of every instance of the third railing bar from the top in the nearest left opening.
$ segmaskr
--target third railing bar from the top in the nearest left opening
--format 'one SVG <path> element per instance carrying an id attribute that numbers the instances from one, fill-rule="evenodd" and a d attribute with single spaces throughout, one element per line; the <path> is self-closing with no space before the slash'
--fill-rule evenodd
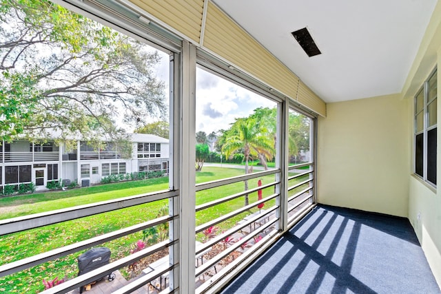
<path id="1" fill-rule="evenodd" d="M 126 256 L 125 258 L 121 258 L 119 260 L 116 260 L 110 264 L 106 264 L 104 266 L 101 266 L 99 269 L 95 269 L 93 271 L 90 271 L 88 273 L 85 273 L 83 275 L 79 275 L 78 277 L 74 277 L 72 280 L 68 280 L 66 282 L 63 282 L 57 286 L 54 286 L 53 288 L 49 288 L 46 291 L 43 291 L 41 293 L 44 294 L 55 294 L 55 293 L 67 293 L 68 291 L 72 291 L 75 288 L 79 288 L 80 286 L 87 285 L 91 282 L 94 282 L 95 280 L 98 280 L 100 277 L 103 277 L 105 275 L 109 275 L 113 271 L 116 271 L 118 269 L 121 269 L 124 266 L 127 266 L 129 264 L 132 264 L 133 262 L 136 262 L 138 260 L 141 260 L 142 258 L 145 258 L 149 255 L 152 255 L 153 253 L 156 253 L 158 251 L 161 251 L 167 247 L 172 246 L 178 242 L 177 240 L 170 242 L 169 240 L 160 242 L 158 244 L 155 244 L 153 246 L 150 246 L 146 249 L 143 249 L 141 251 L 135 252 L 129 256 Z M 170 267 L 169 267 L 170 270 Z M 161 273 L 157 273 L 157 277 L 159 277 Z M 152 279 L 153 280 L 153 279 Z"/>

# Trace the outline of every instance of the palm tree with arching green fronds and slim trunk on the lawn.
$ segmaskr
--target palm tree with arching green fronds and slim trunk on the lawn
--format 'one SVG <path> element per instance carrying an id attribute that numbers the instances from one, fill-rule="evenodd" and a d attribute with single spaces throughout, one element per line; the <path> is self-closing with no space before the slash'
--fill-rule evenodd
<path id="1" fill-rule="evenodd" d="M 265 136 L 265 132 L 258 127 L 254 118 L 237 118 L 232 125 L 222 147 L 227 158 L 231 158 L 238 151 L 243 152 L 245 160 L 245 174 L 248 174 L 248 160 L 252 156 L 263 154 L 266 158 L 273 156 L 273 140 Z M 245 191 L 248 190 L 248 181 L 245 180 Z M 248 195 L 245 195 L 245 206 L 249 204 Z"/>

